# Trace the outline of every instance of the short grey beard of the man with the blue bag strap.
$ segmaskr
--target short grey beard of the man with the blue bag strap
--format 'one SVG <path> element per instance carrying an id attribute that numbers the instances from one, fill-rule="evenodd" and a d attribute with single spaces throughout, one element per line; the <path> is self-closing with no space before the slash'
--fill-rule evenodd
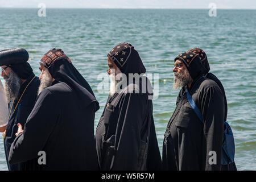
<path id="1" fill-rule="evenodd" d="M 183 87 L 185 85 L 187 85 L 189 82 L 191 82 L 192 79 L 189 76 L 189 72 L 187 71 L 187 69 L 185 69 L 185 71 L 183 73 L 174 73 L 174 90 L 177 90 L 180 87 Z"/>

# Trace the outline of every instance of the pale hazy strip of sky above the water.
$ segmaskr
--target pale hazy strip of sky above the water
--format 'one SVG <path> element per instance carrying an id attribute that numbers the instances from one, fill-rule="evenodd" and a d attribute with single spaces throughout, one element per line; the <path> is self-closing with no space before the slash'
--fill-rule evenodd
<path id="1" fill-rule="evenodd" d="M 208 9 L 216 3 L 217 9 L 256 9 L 255 0 L 0 0 L 0 7 L 34 7 L 39 3 L 54 8 L 157 8 Z"/>

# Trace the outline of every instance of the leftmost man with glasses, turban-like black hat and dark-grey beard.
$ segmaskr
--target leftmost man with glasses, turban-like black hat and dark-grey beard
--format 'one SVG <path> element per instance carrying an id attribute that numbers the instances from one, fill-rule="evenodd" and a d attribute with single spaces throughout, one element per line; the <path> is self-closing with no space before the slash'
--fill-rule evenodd
<path id="1" fill-rule="evenodd" d="M 8 125 L 3 133 L 7 166 L 10 171 L 23 171 L 27 163 L 10 164 L 8 156 L 11 143 L 18 130 L 17 123 L 24 127 L 28 115 L 35 105 L 40 80 L 32 71 L 28 52 L 22 48 L 0 51 L 1 76 L 5 80 L 5 91 L 9 104 Z"/>

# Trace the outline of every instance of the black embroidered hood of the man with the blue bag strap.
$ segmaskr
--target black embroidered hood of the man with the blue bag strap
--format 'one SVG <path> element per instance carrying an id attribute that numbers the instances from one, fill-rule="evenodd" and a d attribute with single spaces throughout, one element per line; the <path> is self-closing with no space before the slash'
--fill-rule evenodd
<path id="1" fill-rule="evenodd" d="M 180 53 L 179 56 L 175 57 L 174 63 L 177 59 L 183 61 L 188 69 L 189 75 L 192 77 L 193 80 L 203 75 L 203 73 L 205 72 L 202 61 L 200 60 L 199 55 L 195 52 L 188 51 Z"/>

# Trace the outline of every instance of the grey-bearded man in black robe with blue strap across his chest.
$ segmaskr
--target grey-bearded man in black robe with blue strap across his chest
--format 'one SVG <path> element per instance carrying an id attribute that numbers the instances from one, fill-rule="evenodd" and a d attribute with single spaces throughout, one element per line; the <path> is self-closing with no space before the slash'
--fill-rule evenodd
<path id="1" fill-rule="evenodd" d="M 224 97 L 216 82 L 205 78 L 200 57 L 184 52 L 175 58 L 174 89 L 186 90 L 168 122 L 163 143 L 166 170 L 220 170 L 224 134 Z M 202 113 L 202 122 L 187 92 Z"/>

